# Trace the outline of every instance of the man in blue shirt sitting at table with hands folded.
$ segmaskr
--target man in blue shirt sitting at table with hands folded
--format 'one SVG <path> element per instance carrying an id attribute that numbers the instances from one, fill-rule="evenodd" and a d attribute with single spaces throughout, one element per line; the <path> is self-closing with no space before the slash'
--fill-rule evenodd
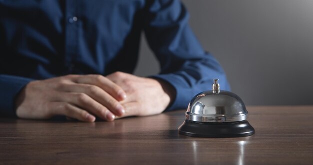
<path id="1" fill-rule="evenodd" d="M 84 122 L 184 109 L 221 79 L 178 0 L 0 1 L 0 112 Z M 161 71 L 131 75 L 141 31 Z"/>

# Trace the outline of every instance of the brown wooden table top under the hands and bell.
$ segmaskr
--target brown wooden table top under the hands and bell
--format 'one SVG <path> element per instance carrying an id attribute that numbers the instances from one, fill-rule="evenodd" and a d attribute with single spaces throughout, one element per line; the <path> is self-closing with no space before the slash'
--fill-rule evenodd
<path id="1" fill-rule="evenodd" d="M 313 165 L 313 106 L 247 107 L 255 134 L 177 134 L 184 111 L 80 123 L 0 118 L 0 164 Z"/>

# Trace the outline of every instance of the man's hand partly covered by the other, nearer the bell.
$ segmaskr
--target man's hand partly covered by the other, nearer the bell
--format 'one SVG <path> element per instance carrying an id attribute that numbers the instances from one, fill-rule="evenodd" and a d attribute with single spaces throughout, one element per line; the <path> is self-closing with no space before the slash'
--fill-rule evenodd
<path id="1" fill-rule="evenodd" d="M 106 76 L 120 86 L 127 95 L 121 101 L 126 116 L 147 116 L 159 114 L 165 110 L 175 97 L 175 90 L 162 80 L 137 77 L 123 72 Z"/>

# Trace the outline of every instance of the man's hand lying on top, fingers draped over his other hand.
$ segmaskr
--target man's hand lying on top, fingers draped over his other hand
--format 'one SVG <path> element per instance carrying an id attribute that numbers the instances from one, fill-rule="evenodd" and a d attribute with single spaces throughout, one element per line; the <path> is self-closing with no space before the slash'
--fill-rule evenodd
<path id="1" fill-rule="evenodd" d="M 16 115 L 27 119 L 48 119 L 65 115 L 84 122 L 94 116 L 112 121 L 125 111 L 119 101 L 125 92 L 101 75 L 67 75 L 32 81 L 15 100 Z"/>

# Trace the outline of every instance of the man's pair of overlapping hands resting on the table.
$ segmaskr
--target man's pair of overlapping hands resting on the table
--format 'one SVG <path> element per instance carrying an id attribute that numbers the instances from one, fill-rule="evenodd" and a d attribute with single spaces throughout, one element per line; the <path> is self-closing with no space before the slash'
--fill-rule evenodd
<path id="1" fill-rule="evenodd" d="M 48 119 L 64 115 L 84 122 L 161 113 L 175 97 L 168 83 L 123 72 L 67 75 L 28 83 L 15 100 L 16 115 Z"/>

